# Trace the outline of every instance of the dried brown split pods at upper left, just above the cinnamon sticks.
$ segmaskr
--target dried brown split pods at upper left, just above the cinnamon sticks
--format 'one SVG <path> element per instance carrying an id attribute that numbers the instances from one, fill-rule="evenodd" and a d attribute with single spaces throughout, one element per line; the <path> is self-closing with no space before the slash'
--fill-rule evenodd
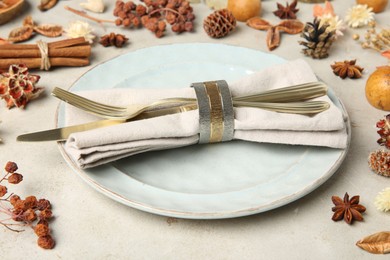
<path id="1" fill-rule="evenodd" d="M 27 41 L 33 37 L 34 33 L 46 37 L 58 37 L 62 35 L 62 26 L 54 24 L 36 25 L 31 16 L 27 16 L 23 21 L 23 26 L 13 29 L 8 35 L 10 42 Z"/>

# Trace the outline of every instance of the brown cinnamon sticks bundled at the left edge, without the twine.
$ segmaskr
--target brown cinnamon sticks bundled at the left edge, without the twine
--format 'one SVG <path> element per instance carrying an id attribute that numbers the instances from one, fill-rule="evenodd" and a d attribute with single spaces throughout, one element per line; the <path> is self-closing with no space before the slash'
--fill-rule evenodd
<path id="1" fill-rule="evenodd" d="M 79 67 L 89 64 L 91 45 L 84 37 L 60 40 L 47 44 L 51 67 Z M 41 68 L 42 53 L 37 44 L 0 45 L 0 71 L 12 64 L 26 64 L 30 69 Z"/>

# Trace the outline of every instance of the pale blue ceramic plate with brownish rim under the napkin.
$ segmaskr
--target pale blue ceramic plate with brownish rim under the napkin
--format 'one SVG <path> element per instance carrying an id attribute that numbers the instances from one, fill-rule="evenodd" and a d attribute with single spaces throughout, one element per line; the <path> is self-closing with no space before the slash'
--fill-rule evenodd
<path id="1" fill-rule="evenodd" d="M 283 62 L 272 54 L 222 44 L 156 46 L 96 66 L 71 89 L 189 87 L 192 82 L 236 80 Z M 345 112 L 333 92 L 329 96 Z M 64 125 L 62 106 L 58 125 Z M 245 216 L 297 200 L 330 178 L 347 152 L 234 141 L 150 152 L 80 170 L 62 144 L 60 150 L 83 180 L 108 197 L 140 210 L 195 219 Z"/>

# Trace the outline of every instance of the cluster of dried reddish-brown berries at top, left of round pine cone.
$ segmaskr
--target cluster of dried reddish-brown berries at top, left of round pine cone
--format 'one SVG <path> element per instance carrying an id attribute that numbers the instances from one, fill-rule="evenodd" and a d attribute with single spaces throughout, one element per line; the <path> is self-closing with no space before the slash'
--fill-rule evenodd
<path id="1" fill-rule="evenodd" d="M 116 1 L 114 16 L 117 26 L 139 28 L 144 26 L 157 37 L 162 37 L 167 27 L 175 33 L 191 32 L 194 29 L 195 15 L 186 0 L 142 0 L 143 4 L 133 1 Z"/>

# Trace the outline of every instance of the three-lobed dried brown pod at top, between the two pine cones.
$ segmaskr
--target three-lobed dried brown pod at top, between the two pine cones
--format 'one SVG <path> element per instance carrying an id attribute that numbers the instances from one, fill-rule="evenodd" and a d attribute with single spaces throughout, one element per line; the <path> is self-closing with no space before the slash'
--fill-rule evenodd
<path id="1" fill-rule="evenodd" d="M 279 46 L 281 32 L 297 34 L 302 32 L 304 28 L 304 24 L 299 20 L 284 20 L 277 25 L 272 25 L 260 17 L 253 17 L 246 24 L 254 29 L 267 31 L 266 42 L 270 51 Z"/>

